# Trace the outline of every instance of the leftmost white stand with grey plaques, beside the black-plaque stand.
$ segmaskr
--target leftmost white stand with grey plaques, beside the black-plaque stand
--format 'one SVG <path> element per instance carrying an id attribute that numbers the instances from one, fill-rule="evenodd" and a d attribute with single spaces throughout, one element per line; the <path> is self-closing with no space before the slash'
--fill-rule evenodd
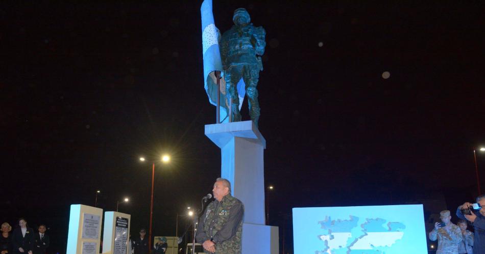
<path id="1" fill-rule="evenodd" d="M 71 205 L 67 254 L 98 254 L 100 251 L 103 209 Z"/>

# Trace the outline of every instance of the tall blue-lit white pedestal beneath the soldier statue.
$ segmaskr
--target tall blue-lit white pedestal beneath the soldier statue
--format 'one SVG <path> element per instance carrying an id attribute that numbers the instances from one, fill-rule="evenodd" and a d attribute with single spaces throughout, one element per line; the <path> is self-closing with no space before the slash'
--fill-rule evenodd
<path id="1" fill-rule="evenodd" d="M 252 121 L 209 124 L 205 135 L 221 148 L 221 176 L 231 182 L 232 195 L 244 203 L 243 254 L 278 253 L 278 227 L 264 221 L 266 140 Z"/>

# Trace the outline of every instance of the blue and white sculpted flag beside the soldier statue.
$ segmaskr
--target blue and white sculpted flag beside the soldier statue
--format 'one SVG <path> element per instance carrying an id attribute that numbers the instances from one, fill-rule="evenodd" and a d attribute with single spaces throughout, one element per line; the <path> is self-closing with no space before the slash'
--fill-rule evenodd
<path id="1" fill-rule="evenodd" d="M 221 93 L 217 89 L 214 71 L 223 71 L 221 62 L 221 52 L 219 50 L 219 37 L 221 33 L 214 24 L 214 16 L 212 14 L 212 0 L 204 0 L 201 6 L 202 19 L 202 55 L 204 59 L 204 89 L 209 97 L 210 104 L 217 106 L 217 93 Z M 229 112 L 229 102 L 226 100 L 225 88 L 226 83 L 224 78 L 221 79 L 221 87 L 224 93 L 220 97 L 220 122 L 227 123 Z M 239 93 L 239 109 L 243 105 L 244 96 L 246 94 L 245 84 L 243 79 L 237 83 L 237 91 Z"/>

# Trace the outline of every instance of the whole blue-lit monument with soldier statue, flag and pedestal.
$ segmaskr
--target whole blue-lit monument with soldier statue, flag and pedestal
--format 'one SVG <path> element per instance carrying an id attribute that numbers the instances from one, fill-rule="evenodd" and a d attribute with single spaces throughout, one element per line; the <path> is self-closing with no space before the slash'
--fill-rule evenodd
<path id="1" fill-rule="evenodd" d="M 278 253 L 278 227 L 265 225 L 264 219 L 266 140 L 258 130 L 256 86 L 265 31 L 253 26 L 249 13 L 239 8 L 234 11 L 234 25 L 221 36 L 208 0 L 202 3 L 201 17 L 204 88 L 216 106 L 216 123 L 205 126 L 205 135 L 221 149 L 221 177 L 231 182 L 232 195 L 245 206 L 242 252 Z M 241 121 L 245 95 L 251 121 Z"/>

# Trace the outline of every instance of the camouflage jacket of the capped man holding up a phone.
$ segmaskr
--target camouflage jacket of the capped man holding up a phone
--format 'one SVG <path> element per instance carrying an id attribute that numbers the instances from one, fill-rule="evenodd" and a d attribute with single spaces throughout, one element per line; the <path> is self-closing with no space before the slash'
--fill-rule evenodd
<path id="1" fill-rule="evenodd" d="M 462 231 L 457 225 L 450 223 L 445 228 L 433 229 L 429 232 L 429 240 L 438 239 L 438 249 L 436 254 L 457 254 L 458 245 L 462 242 Z"/>

